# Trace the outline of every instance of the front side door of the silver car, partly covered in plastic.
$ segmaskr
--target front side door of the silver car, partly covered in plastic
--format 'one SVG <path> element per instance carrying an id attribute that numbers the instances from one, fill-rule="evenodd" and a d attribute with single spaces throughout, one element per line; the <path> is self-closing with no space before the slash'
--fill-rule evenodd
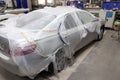
<path id="1" fill-rule="evenodd" d="M 80 39 L 80 43 L 77 45 L 77 51 L 97 38 L 97 33 L 94 30 L 96 29 L 98 23 L 97 20 L 94 21 L 93 18 L 90 19 L 82 11 L 77 11 L 76 15 L 76 20 L 78 20 L 78 23 L 80 23 L 80 25 L 78 26 L 80 28 L 79 32 L 82 36 Z"/>

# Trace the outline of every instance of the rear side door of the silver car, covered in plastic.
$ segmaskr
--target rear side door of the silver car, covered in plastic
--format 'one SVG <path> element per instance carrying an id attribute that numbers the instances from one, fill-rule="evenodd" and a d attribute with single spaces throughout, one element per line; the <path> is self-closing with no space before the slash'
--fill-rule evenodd
<path id="1" fill-rule="evenodd" d="M 80 43 L 80 33 L 74 13 L 64 16 L 60 27 L 60 35 L 65 44 L 69 45 L 70 51 L 75 52 L 75 48 Z"/>

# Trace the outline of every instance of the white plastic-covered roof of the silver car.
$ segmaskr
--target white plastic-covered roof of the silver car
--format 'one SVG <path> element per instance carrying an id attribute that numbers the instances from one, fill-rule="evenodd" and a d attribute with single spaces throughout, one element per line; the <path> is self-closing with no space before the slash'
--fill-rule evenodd
<path id="1" fill-rule="evenodd" d="M 83 11 L 83 10 L 70 6 L 45 7 L 43 9 L 36 10 L 36 12 L 45 12 L 55 16 L 65 15 L 67 13 L 71 13 L 75 11 Z"/>

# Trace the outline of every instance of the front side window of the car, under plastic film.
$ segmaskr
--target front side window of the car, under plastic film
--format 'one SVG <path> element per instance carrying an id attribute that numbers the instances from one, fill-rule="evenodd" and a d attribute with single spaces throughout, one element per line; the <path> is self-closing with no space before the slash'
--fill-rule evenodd
<path id="1" fill-rule="evenodd" d="M 77 15 L 83 24 L 87 24 L 94 20 L 94 17 L 86 12 L 77 12 Z"/>

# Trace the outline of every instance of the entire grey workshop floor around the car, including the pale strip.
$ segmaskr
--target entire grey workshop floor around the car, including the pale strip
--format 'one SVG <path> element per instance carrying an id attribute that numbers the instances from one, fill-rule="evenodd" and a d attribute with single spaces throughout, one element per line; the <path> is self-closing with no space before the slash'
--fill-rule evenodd
<path id="1" fill-rule="evenodd" d="M 116 40 L 116 33 L 107 31 L 102 41 L 93 43 L 89 47 L 92 48 L 81 53 L 85 56 L 79 55 L 80 59 L 73 66 L 59 73 L 59 77 L 51 76 L 47 77 L 48 79 L 38 80 L 120 80 L 120 42 Z M 83 57 L 84 59 L 81 60 Z M 0 80 L 30 79 L 15 76 L 0 67 Z"/>

